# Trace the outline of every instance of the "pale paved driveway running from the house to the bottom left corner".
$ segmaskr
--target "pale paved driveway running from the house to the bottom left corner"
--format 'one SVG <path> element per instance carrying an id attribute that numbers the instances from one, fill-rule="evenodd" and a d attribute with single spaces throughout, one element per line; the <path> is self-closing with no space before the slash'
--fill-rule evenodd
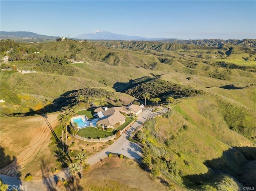
<path id="1" fill-rule="evenodd" d="M 162 108 L 162 112 L 168 112 L 168 108 Z M 158 111 L 157 113 L 160 114 L 161 111 Z M 153 118 L 155 115 L 155 112 L 152 112 L 152 108 L 142 109 L 142 112 L 138 114 L 138 120 L 124 134 L 122 134 L 122 136 L 120 136 L 118 140 L 116 140 L 112 145 L 110 145 L 105 150 L 88 158 L 87 163 L 89 163 L 90 165 L 94 165 L 95 163 L 108 157 L 108 154 L 110 152 L 122 154 L 136 161 L 140 160 L 142 154 L 140 146 L 134 142 L 130 142 L 128 140 L 128 137 L 130 136 L 132 131 L 134 131 L 148 119 Z M 2 179 L 3 183 L 10 185 L 8 187 L 8 190 L 12 190 L 13 188 L 15 188 L 24 191 L 51 191 L 53 190 L 52 188 L 55 188 L 57 191 L 61 191 L 61 189 L 56 186 L 56 181 L 58 177 L 62 179 L 67 179 L 68 177 L 70 177 L 70 175 L 67 170 L 64 170 L 54 176 L 34 180 L 31 182 L 20 181 L 15 177 L 0 175 L 0 178 Z"/>

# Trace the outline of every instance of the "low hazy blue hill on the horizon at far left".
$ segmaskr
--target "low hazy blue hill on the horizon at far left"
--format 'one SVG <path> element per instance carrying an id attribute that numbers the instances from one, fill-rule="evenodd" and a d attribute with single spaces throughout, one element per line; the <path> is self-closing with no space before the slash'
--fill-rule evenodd
<path id="1" fill-rule="evenodd" d="M 56 39 L 58 36 L 47 36 L 26 31 L 7 32 L 0 31 L 1 39 L 31 38 L 31 39 Z"/>

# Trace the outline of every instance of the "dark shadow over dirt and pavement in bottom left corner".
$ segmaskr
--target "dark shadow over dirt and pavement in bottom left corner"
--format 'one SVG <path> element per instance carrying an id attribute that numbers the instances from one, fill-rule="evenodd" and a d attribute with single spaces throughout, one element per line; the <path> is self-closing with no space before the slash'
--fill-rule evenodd
<path id="1" fill-rule="evenodd" d="M 1 176 L 2 182 L 8 185 L 22 187 L 22 182 L 20 180 L 21 167 L 17 162 L 15 156 L 6 155 L 4 152 L 5 148 L 0 147 L 1 151 L 1 175 L 7 175 L 8 177 Z"/>

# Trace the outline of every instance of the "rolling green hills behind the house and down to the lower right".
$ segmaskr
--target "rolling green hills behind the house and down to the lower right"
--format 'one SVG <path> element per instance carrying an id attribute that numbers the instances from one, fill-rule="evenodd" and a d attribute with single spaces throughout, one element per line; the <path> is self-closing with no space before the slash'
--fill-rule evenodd
<path id="1" fill-rule="evenodd" d="M 1 63 L 2 116 L 144 103 L 145 92 L 168 106 L 166 98 L 174 96 L 172 111 L 148 121 L 138 134 L 151 160 L 145 169 L 156 173 L 160 167 L 160 176 L 170 184 L 192 190 L 239 190 L 253 182 L 254 170 L 244 178 L 256 159 L 253 47 L 71 40 L 1 43 L 1 56 L 12 56 L 12 62 Z M 17 68 L 36 73 L 18 73 Z M 80 95 L 85 98 L 82 104 Z"/>

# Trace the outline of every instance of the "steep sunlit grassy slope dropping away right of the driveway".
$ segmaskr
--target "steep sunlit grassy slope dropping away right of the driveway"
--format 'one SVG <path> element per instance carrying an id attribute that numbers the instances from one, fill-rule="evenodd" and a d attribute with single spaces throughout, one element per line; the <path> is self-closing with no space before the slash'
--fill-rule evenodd
<path id="1" fill-rule="evenodd" d="M 225 112 L 230 108 L 222 107 L 218 97 L 200 96 L 186 98 L 171 113 L 146 122 L 138 138 L 146 140 L 149 151 L 144 149 L 144 156 L 151 158 L 151 172 L 159 166 L 170 181 L 191 189 L 239 190 L 246 182 L 239 179 L 245 170 L 241 165 L 256 159 L 256 138 L 251 137 L 255 116 L 251 112 L 253 119 L 246 120 L 246 128 L 254 128 L 245 138 L 229 128 Z"/>

